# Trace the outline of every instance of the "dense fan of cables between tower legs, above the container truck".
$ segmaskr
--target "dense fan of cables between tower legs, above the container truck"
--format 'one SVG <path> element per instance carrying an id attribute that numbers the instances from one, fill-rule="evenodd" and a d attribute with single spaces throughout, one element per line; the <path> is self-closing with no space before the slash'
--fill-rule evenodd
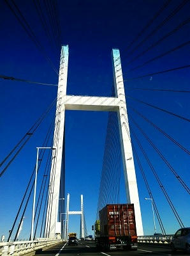
<path id="1" fill-rule="evenodd" d="M 112 86 L 112 97 L 114 96 L 114 86 Z M 118 116 L 117 112 L 111 111 L 108 113 L 96 220 L 99 219 L 99 210 L 106 204 L 119 204 L 121 168 L 122 158 Z"/>

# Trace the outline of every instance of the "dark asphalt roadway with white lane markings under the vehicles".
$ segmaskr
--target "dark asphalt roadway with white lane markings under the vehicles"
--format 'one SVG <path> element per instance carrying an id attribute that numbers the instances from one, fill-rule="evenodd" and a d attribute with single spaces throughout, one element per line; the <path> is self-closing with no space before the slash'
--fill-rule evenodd
<path id="1" fill-rule="evenodd" d="M 155 256 L 170 256 L 170 255 L 187 255 L 185 252 L 177 251 L 172 253 L 169 247 L 161 246 L 138 246 L 137 251 L 110 251 L 103 252 L 98 251 L 94 244 L 94 241 L 79 241 L 78 246 L 68 246 L 67 243 L 60 243 L 56 246 L 49 248 L 44 251 L 36 252 L 38 256 L 112 256 L 112 255 L 155 255 Z"/>

